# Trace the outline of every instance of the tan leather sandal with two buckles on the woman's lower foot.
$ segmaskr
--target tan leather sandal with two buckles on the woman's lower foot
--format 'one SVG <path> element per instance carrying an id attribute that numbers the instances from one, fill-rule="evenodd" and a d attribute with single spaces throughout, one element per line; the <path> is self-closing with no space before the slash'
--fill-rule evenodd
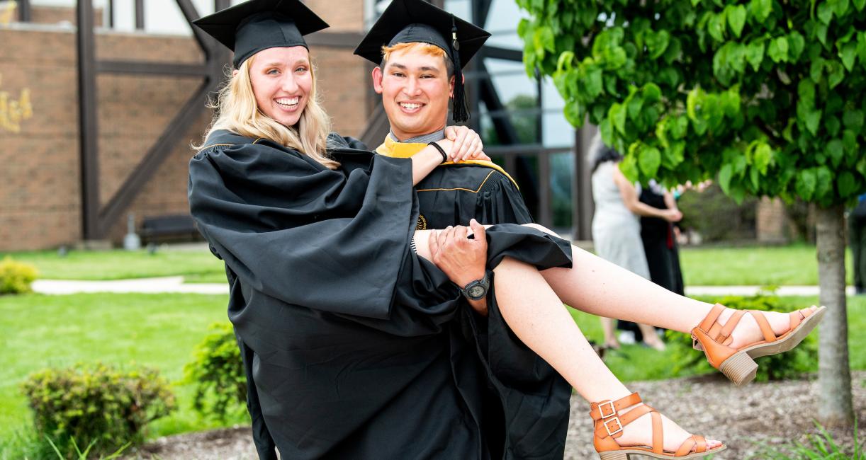
<path id="1" fill-rule="evenodd" d="M 692 435 L 680 444 L 675 452 L 663 448 L 664 431 L 662 431 L 662 415 L 650 406 L 642 404 L 637 393 L 631 393 L 623 399 L 610 399 L 592 403 L 590 417 L 595 421 L 595 445 L 601 460 L 629 460 L 630 455 L 645 455 L 653 458 L 700 458 L 725 450 L 725 444 L 714 449 L 707 449 L 707 439 Z M 620 414 L 626 407 L 640 404 L 630 411 Z M 620 447 L 616 438 L 623 436 L 623 427 L 646 414 L 652 417 L 652 446 L 650 447 Z"/>

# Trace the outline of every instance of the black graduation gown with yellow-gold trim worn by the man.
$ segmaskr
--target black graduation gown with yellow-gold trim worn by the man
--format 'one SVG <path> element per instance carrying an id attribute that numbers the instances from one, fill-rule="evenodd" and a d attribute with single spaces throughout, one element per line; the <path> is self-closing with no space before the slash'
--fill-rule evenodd
<path id="1" fill-rule="evenodd" d="M 365 149 L 363 144 L 354 145 Z M 388 137 L 376 151 L 389 157 L 410 157 L 426 146 L 397 143 Z M 468 226 L 473 218 L 491 225 L 533 221 L 517 185 L 493 163 L 443 164 L 418 182 L 415 190 L 417 229 Z M 485 430 L 490 450 L 494 457 L 501 457 L 504 446 L 510 455 L 519 458 L 562 458 L 570 411 L 567 399 L 572 388 L 553 367 L 514 338 L 507 326 L 502 327 L 505 322 L 495 304 L 488 310 L 492 323 L 477 315 L 468 318 L 473 330 L 471 342 L 479 350 L 478 359 L 487 363 L 492 356 L 498 361 L 488 373 L 488 388 L 483 393 L 483 422 L 487 427 L 513 427 L 510 431 Z M 504 348 L 510 349 L 510 353 L 497 353 Z M 528 369 L 532 372 L 527 372 Z M 527 391 L 529 388 L 534 390 Z M 537 440 L 525 436 L 530 426 L 538 432 L 548 431 L 551 436 L 543 445 L 534 445 Z M 552 450 L 552 445 L 560 445 L 562 449 Z"/>

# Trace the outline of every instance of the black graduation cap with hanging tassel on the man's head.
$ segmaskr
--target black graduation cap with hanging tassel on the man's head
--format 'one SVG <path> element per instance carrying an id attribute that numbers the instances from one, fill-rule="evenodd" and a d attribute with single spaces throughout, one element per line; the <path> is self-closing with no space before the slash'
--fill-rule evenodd
<path id="1" fill-rule="evenodd" d="M 454 110 L 451 118 L 460 122 L 469 119 L 462 68 L 489 36 L 487 30 L 423 0 L 392 0 L 355 48 L 355 54 L 378 65 L 382 62 L 382 47 L 386 45 L 423 42 L 442 48 L 454 62 Z"/>

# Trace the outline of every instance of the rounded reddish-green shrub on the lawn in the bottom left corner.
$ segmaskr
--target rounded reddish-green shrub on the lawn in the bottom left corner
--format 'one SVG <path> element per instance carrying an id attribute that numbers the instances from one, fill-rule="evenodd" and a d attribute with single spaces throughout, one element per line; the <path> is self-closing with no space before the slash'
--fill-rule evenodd
<path id="1" fill-rule="evenodd" d="M 98 364 L 44 369 L 24 381 L 36 430 L 66 456 L 76 445 L 94 455 L 139 444 L 145 425 L 174 409 L 174 395 L 155 369 L 121 371 Z"/>

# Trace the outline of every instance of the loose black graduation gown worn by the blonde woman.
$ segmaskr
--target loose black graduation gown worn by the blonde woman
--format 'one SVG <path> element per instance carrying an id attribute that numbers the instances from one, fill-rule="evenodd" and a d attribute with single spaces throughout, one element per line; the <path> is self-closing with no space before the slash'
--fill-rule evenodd
<path id="1" fill-rule="evenodd" d="M 522 344 L 504 323 L 490 329 L 512 348 L 481 362 L 456 286 L 410 251 L 410 162 L 345 148 L 335 151 L 345 168 L 329 170 L 226 131 L 207 144 L 190 163 L 191 213 L 229 274 L 260 457 L 274 447 L 293 459 L 487 457 L 484 374 L 533 369 L 508 367 Z M 566 241 L 525 227 L 493 227 L 488 244 L 490 267 L 505 256 L 571 264 Z M 507 447 L 505 457 L 561 457 L 549 421 L 518 422 L 503 430 L 540 455 Z"/>

